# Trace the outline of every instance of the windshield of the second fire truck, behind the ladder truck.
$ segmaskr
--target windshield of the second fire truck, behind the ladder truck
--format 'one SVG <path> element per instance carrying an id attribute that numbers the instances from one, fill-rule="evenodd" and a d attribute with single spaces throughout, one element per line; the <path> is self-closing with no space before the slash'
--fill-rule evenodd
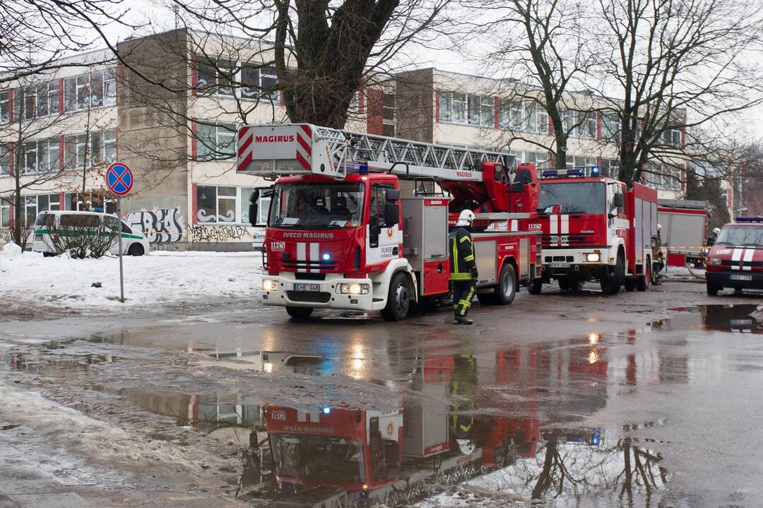
<path id="1" fill-rule="evenodd" d="M 600 182 L 541 184 L 538 213 L 606 213 L 604 190 L 604 184 Z M 558 212 L 554 211 L 556 205 L 559 206 Z"/>

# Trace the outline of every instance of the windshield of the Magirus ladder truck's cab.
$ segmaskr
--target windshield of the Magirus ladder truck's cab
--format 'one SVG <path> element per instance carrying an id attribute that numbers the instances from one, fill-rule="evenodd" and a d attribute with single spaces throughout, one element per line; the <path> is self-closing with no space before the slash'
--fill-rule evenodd
<path id="1" fill-rule="evenodd" d="M 268 225 L 273 228 L 354 228 L 363 215 L 362 184 L 278 184 Z"/>

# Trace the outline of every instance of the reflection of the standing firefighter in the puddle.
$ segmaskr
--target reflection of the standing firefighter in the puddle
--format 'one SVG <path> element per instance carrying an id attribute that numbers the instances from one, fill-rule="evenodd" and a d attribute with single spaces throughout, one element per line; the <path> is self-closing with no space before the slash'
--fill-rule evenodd
<path id="1" fill-rule="evenodd" d="M 450 382 L 452 415 L 450 417 L 451 436 L 456 438 L 461 452 L 472 453 L 475 443 L 472 429 L 475 423 L 474 387 L 477 382 L 477 359 L 472 355 L 459 354 L 453 357 L 453 375 Z"/>

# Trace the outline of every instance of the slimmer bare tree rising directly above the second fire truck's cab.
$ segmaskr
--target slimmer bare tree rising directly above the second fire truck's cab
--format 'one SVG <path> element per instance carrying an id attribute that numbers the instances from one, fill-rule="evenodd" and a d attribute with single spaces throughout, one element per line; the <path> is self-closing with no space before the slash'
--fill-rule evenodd
<path id="1" fill-rule="evenodd" d="M 555 168 L 566 168 L 568 139 L 596 122 L 591 97 L 576 94 L 593 62 L 590 21 L 581 2 L 511 0 L 467 2 L 488 11 L 488 27 L 501 45 L 485 62 L 507 78 L 501 81 L 501 129 L 510 145 L 514 140 L 536 145 L 553 154 Z M 545 112 L 548 115 L 538 114 Z M 546 134 L 553 137 L 549 141 Z M 538 136 L 540 135 L 540 136 Z"/>

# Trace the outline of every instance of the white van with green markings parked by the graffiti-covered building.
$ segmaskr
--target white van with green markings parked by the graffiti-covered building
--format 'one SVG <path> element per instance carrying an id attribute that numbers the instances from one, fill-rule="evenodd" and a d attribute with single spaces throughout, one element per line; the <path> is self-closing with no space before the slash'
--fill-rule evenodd
<path id="1" fill-rule="evenodd" d="M 56 210 L 40 212 L 34 221 L 34 241 L 32 251 L 42 252 L 45 256 L 53 255 L 53 235 L 56 229 L 66 226 L 85 226 L 101 228 L 105 225 L 111 232 L 122 228 L 122 254 L 130 256 L 142 256 L 147 254 L 149 243 L 142 232 L 130 228 L 124 221 L 113 213 L 104 212 L 80 212 L 76 210 Z M 108 233 L 111 235 L 111 233 Z M 114 236 L 114 244 L 109 249 L 111 254 L 119 254 L 118 238 Z"/>

